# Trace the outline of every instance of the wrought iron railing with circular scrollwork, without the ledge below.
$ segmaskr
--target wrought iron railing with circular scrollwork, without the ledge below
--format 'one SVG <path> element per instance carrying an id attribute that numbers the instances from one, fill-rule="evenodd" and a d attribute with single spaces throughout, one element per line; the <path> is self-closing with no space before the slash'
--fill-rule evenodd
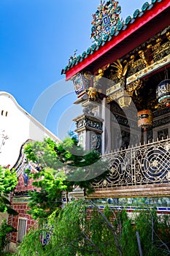
<path id="1" fill-rule="evenodd" d="M 93 187 L 123 187 L 170 183 L 170 139 L 128 148 L 104 156 L 109 177 Z"/>

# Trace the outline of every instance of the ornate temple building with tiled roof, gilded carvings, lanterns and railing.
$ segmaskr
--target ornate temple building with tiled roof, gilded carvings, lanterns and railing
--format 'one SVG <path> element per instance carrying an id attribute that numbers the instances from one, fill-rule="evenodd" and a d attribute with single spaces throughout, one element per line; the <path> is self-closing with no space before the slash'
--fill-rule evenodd
<path id="1" fill-rule="evenodd" d="M 83 113 L 80 144 L 109 162 L 109 177 L 89 197 L 128 211 L 170 212 L 170 2 L 144 2 L 125 20 L 117 1 L 93 14 L 93 44 L 62 70 Z"/>

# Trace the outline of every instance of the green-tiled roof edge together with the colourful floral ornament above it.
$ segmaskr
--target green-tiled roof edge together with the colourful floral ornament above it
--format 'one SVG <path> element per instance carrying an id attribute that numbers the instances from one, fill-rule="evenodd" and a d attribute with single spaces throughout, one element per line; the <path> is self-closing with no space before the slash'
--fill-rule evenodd
<path id="1" fill-rule="evenodd" d="M 117 1 L 109 0 L 106 3 L 101 1 L 98 10 L 93 14 L 91 38 L 94 42 L 87 50 L 84 50 L 81 55 L 71 56 L 69 63 L 61 71 L 62 74 L 66 74 L 70 69 L 80 64 L 85 59 L 88 59 L 96 51 L 101 50 L 105 44 L 109 41 L 113 41 L 120 35 L 121 31 L 125 31 L 131 24 L 136 23 L 136 20 L 142 19 L 148 11 L 152 13 L 153 7 L 160 4 L 160 2 L 166 2 L 166 0 L 152 0 L 151 4 L 147 1 L 142 5 L 142 10 L 135 10 L 132 16 L 128 16 L 125 20 L 120 19 L 121 7 L 118 6 Z M 168 1 L 169 4 L 169 1 Z M 159 10 L 161 12 L 161 8 Z M 147 23 L 147 21 L 145 21 Z M 113 45 L 114 46 L 114 45 Z"/>

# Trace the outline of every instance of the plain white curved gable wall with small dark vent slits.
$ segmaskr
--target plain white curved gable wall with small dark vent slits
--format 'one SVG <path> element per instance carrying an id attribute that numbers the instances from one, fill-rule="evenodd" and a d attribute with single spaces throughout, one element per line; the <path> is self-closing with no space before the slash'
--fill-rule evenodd
<path id="1" fill-rule="evenodd" d="M 7 92 L 0 92 L 0 165 L 15 165 L 20 147 L 26 140 L 43 140 L 50 137 L 59 141 L 53 133 L 42 126 L 18 105 Z"/>

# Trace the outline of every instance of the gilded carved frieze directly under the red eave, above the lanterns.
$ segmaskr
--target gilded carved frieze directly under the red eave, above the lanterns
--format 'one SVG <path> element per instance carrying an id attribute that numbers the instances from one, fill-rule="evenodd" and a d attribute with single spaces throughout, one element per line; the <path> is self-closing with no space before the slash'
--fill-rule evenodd
<path id="1" fill-rule="evenodd" d="M 116 90 L 121 78 L 126 78 L 127 86 L 169 63 L 170 31 L 166 28 L 161 34 L 144 42 L 123 59 L 117 59 L 110 64 L 106 78 L 112 80 L 112 87 L 109 86 L 107 89 L 107 95 Z"/>

